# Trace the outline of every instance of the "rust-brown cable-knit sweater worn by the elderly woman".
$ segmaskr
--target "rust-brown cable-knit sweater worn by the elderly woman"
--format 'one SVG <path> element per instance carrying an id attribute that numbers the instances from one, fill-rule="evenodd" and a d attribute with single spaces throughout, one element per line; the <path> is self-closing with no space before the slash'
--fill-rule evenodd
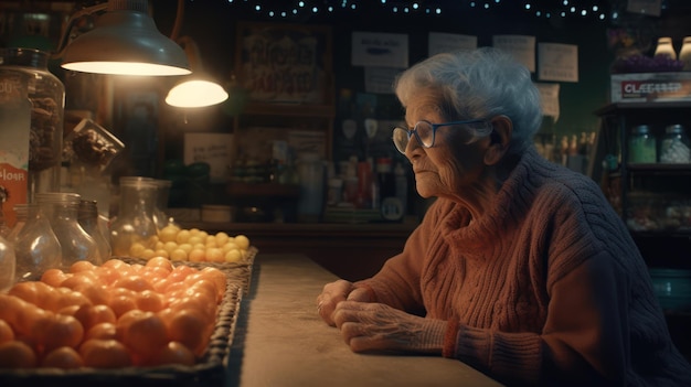
<path id="1" fill-rule="evenodd" d="M 620 217 L 593 180 L 534 149 L 480 218 L 437 200 L 357 286 L 448 321 L 444 355 L 507 384 L 691 386 Z"/>

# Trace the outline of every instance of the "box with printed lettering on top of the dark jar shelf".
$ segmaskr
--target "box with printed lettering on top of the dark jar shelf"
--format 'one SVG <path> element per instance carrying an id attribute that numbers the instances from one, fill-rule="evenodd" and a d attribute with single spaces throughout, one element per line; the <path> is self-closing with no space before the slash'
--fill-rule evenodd
<path id="1" fill-rule="evenodd" d="M 612 103 L 691 100 L 691 72 L 612 75 Z"/>

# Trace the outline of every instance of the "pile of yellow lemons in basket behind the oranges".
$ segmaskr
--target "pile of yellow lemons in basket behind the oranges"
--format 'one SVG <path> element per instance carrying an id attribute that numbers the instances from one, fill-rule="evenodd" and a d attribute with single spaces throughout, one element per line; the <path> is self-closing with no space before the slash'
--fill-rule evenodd
<path id="1" fill-rule="evenodd" d="M 146 244 L 134 243 L 129 255 L 143 259 L 164 257 L 191 262 L 242 262 L 247 258 L 249 246 L 249 238 L 242 234 L 209 234 L 199 228 L 185 229 L 169 224 L 152 240 L 147 240 Z"/>

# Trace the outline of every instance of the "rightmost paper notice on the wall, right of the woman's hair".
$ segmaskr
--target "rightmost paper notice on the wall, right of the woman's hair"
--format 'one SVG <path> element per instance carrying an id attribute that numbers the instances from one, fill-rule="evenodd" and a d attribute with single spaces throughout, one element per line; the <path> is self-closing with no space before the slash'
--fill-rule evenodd
<path id="1" fill-rule="evenodd" d="M 541 80 L 578 82 L 578 46 L 538 44 L 538 76 Z"/>

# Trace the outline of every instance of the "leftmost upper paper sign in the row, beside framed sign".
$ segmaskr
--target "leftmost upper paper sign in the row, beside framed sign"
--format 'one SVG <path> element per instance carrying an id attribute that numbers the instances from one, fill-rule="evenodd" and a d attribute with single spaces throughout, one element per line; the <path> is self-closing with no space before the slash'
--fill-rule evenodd
<path id="1" fill-rule="evenodd" d="M 408 35 L 403 33 L 352 33 L 353 66 L 395 67 L 408 66 Z"/>

